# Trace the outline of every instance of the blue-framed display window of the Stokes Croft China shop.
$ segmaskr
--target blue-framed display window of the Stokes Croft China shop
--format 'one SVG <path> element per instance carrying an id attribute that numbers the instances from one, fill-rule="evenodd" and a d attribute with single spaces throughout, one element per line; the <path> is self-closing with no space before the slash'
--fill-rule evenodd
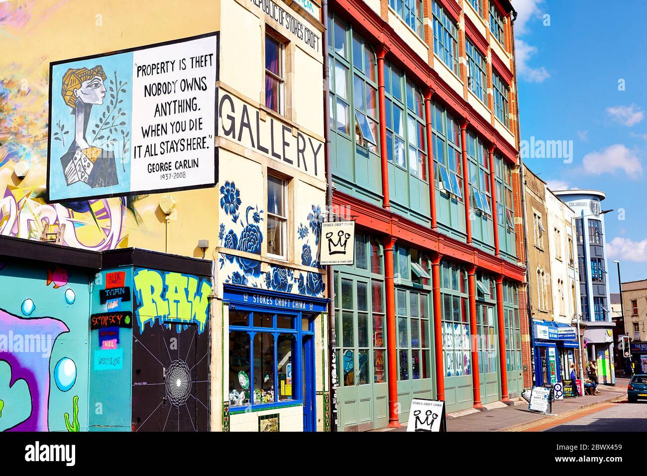
<path id="1" fill-rule="evenodd" d="M 298 334 L 314 334 L 300 314 L 231 310 L 229 313 L 230 407 L 300 400 L 302 346 Z M 291 369 L 296 376 L 292 381 Z"/>

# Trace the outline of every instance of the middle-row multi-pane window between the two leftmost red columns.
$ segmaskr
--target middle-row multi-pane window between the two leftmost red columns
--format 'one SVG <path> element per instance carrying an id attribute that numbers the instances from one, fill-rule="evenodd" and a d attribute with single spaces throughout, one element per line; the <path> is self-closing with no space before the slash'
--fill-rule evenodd
<path id="1" fill-rule="evenodd" d="M 410 174 L 427 181 L 424 100 L 419 88 L 393 65 L 384 65 L 386 157 Z"/>

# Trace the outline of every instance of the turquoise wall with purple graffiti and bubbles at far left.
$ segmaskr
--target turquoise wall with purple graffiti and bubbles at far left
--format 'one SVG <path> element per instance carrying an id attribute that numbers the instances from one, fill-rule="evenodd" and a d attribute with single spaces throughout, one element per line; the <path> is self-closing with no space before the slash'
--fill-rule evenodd
<path id="1" fill-rule="evenodd" d="M 73 267 L 0 262 L 0 430 L 87 431 L 90 283 Z"/>

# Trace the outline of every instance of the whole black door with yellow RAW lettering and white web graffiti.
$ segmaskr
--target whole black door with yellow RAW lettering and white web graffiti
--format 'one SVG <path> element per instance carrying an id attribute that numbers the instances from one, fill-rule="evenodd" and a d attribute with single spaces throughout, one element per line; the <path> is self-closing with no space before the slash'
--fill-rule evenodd
<path id="1" fill-rule="evenodd" d="M 209 280 L 135 269 L 133 431 L 208 431 Z"/>

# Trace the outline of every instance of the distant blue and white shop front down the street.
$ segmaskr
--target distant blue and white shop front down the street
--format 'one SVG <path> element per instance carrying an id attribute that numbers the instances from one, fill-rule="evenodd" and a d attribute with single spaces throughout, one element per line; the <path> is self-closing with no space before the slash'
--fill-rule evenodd
<path id="1" fill-rule="evenodd" d="M 532 341 L 535 385 L 568 380 L 571 364 L 578 365 L 576 329 L 564 323 L 533 319 Z"/>

